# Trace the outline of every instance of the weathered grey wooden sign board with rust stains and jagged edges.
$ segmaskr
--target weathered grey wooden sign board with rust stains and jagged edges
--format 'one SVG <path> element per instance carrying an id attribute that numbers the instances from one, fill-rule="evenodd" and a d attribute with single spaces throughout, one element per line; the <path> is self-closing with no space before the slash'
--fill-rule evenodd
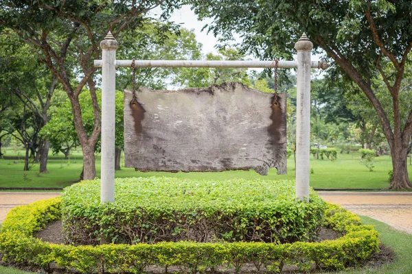
<path id="1" fill-rule="evenodd" d="M 239 82 L 124 91 L 124 158 L 139 171 L 254 169 L 286 174 L 286 94 Z"/>

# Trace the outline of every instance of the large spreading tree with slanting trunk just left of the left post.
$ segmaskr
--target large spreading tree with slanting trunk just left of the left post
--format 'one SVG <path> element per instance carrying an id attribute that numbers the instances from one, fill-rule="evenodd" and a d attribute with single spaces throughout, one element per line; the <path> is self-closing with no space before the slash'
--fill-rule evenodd
<path id="1" fill-rule="evenodd" d="M 69 97 L 76 134 L 82 147 L 84 179 L 93 179 L 96 175 L 94 147 L 100 136 L 101 121 L 93 78 L 97 68 L 93 67 L 92 60 L 100 59 L 100 40 L 107 29 L 111 29 L 119 40 L 124 36 L 139 38 L 139 30 L 145 24 L 158 26 L 162 32 L 170 25 L 158 24 L 145 15 L 159 5 L 170 11 L 176 3 L 163 0 L 1 1 L 0 28 L 12 29 L 30 45 Z M 86 86 L 87 90 L 84 89 Z M 93 102 L 93 131 L 89 135 L 83 125 L 79 100 L 82 92 L 88 92 Z"/>

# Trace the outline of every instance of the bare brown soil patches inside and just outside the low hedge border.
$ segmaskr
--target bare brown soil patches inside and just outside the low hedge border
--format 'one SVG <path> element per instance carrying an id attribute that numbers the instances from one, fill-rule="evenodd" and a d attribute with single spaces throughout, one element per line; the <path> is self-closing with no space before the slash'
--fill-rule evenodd
<path id="1" fill-rule="evenodd" d="M 64 243 L 64 237 L 62 233 L 62 222 L 61 221 L 54 221 L 49 223 L 44 229 L 42 229 L 39 232 L 36 232 L 34 234 L 36 238 L 40 238 L 41 240 L 45 242 L 51 242 L 54 244 L 63 244 Z M 337 232 L 335 232 L 333 229 L 328 229 L 328 228 L 322 228 L 319 232 L 319 238 L 317 239 L 318 241 L 321 240 L 334 240 L 336 238 L 339 238 L 341 235 Z M 380 244 L 379 245 L 380 252 L 375 253 L 371 256 L 371 260 L 366 262 L 362 267 L 364 269 L 368 269 L 369 271 L 372 271 L 374 269 L 378 269 L 380 266 L 383 266 L 384 264 L 390 264 L 391 262 L 394 261 L 395 259 L 395 253 L 393 251 L 385 246 Z M 0 259 L 1 259 L 1 254 L 0 254 Z M 36 273 L 52 273 L 52 274 L 62 274 L 62 273 L 76 273 L 73 271 L 69 271 L 67 269 L 58 269 L 57 267 L 52 267 L 52 269 L 49 269 L 49 271 L 45 271 L 43 269 L 39 269 L 38 266 L 30 266 L 27 264 L 5 264 L 4 262 L 1 262 L 0 260 L 0 265 L 5 265 L 5 266 L 13 266 L 18 269 L 22 269 L 25 271 L 33 271 Z M 246 267 L 245 269 L 248 269 Z M 250 269 L 253 269 L 252 267 Z M 151 273 L 159 273 L 159 269 L 151 269 L 149 270 Z M 255 273 L 253 271 L 244 271 L 242 273 Z M 284 267 L 284 271 L 282 273 L 297 273 L 295 269 L 290 268 L 290 267 Z M 313 273 L 317 273 L 314 271 Z M 323 273 L 322 271 L 320 273 Z"/>

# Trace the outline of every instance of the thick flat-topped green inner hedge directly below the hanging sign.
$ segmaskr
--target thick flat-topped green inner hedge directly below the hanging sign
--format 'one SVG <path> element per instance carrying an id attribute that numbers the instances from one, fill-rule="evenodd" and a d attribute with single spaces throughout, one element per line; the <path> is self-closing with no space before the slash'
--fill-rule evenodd
<path id="1" fill-rule="evenodd" d="M 291 181 L 146 177 L 116 179 L 115 186 L 115 202 L 107 204 L 100 203 L 100 180 L 65 189 L 68 242 L 295 242 L 314 239 L 323 219 L 321 198 L 310 192 L 310 203 L 296 203 Z"/>

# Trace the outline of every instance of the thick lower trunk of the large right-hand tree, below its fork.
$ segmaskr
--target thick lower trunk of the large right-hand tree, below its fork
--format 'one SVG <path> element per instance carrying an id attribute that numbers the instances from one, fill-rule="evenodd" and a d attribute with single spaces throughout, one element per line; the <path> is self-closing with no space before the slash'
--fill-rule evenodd
<path id="1" fill-rule="evenodd" d="M 391 149 L 393 177 L 389 189 L 400 190 L 412 188 L 408 176 L 408 162 L 407 162 L 408 147 L 395 147 Z"/>

